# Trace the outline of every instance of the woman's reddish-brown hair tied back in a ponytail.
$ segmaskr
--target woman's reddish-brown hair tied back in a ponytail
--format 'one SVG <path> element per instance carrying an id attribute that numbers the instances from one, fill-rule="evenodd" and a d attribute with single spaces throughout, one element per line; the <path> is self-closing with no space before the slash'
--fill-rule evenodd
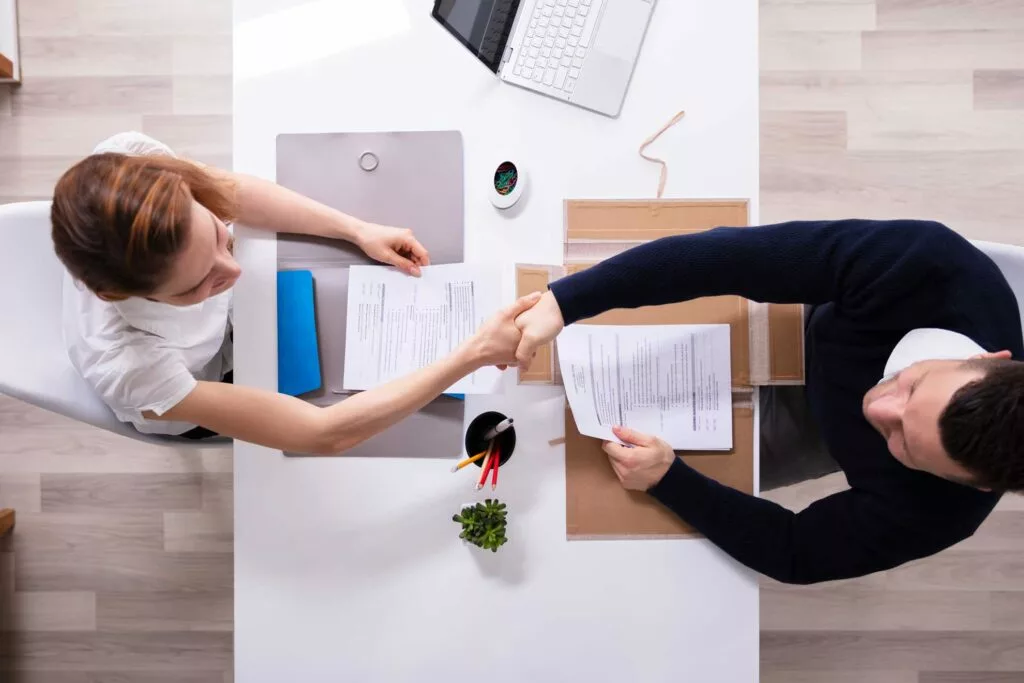
<path id="1" fill-rule="evenodd" d="M 53 190 L 53 248 L 76 280 L 106 299 L 151 295 L 184 247 L 193 201 L 229 222 L 234 187 L 173 157 L 101 154 Z"/>

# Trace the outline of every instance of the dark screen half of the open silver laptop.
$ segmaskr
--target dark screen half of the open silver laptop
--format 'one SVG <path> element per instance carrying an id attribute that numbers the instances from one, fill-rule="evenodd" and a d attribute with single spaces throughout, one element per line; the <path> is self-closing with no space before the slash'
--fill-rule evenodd
<path id="1" fill-rule="evenodd" d="M 519 0 L 434 0 L 433 17 L 498 73 Z"/>

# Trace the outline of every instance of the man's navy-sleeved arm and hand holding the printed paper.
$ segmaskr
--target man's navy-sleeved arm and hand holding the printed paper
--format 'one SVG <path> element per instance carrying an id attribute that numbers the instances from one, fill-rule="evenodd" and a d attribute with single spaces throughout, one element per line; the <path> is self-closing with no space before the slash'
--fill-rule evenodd
<path id="1" fill-rule="evenodd" d="M 935 478 L 955 493 L 907 489 L 893 499 L 846 490 L 793 513 L 696 472 L 662 439 L 624 427 L 604 443 L 618 480 L 650 494 L 750 568 L 788 584 L 861 577 L 932 555 L 967 538 L 998 497 Z M 930 485 L 921 484 L 921 485 Z"/>

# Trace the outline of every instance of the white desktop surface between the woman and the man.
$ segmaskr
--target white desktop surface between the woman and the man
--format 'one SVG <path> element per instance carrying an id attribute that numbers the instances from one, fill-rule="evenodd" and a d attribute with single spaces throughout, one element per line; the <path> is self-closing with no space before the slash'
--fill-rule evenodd
<path id="1" fill-rule="evenodd" d="M 236 169 L 273 178 L 281 132 L 458 129 L 467 259 L 560 262 L 561 200 L 651 197 L 657 168 L 637 146 L 686 109 L 656 147 L 667 195 L 750 198 L 756 219 L 756 0 L 659 0 L 618 120 L 500 83 L 430 4 L 234 0 Z M 483 191 L 503 156 L 531 176 L 514 220 Z M 272 389 L 275 242 L 240 238 L 236 376 Z M 458 541 L 451 516 L 473 496 L 451 461 L 238 444 L 237 680 L 755 681 L 754 574 L 705 541 L 565 541 L 563 453 L 548 445 L 562 405 L 511 383 L 467 403 L 518 427 L 497 555 Z"/>

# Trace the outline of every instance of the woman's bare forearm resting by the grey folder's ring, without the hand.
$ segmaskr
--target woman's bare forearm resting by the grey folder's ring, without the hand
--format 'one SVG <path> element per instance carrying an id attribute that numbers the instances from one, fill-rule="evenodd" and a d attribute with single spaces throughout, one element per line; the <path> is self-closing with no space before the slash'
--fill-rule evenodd
<path id="1" fill-rule="evenodd" d="M 358 218 L 262 178 L 234 173 L 231 179 L 238 188 L 238 218 L 246 225 L 359 242 L 362 221 Z"/>

